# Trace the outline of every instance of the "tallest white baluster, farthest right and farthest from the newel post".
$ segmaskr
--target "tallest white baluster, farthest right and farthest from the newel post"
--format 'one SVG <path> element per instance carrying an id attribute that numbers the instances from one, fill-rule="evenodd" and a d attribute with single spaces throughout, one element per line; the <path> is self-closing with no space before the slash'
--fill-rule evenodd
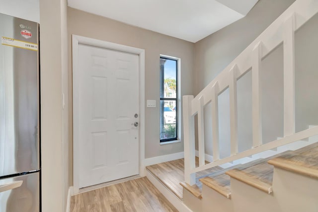
<path id="1" fill-rule="evenodd" d="M 295 133 L 295 13 L 284 23 L 284 137 Z"/>

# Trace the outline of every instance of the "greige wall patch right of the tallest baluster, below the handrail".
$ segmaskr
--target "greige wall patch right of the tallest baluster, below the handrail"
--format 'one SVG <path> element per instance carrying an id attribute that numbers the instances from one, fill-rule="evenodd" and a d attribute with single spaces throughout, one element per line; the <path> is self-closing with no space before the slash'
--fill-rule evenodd
<path id="1" fill-rule="evenodd" d="M 318 125 L 318 14 L 295 33 L 296 132 Z"/>

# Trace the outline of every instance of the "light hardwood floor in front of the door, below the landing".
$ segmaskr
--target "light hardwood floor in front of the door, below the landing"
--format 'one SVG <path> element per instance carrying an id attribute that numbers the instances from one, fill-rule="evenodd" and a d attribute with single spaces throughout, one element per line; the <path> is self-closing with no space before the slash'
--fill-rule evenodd
<path id="1" fill-rule="evenodd" d="M 146 178 L 75 195 L 71 212 L 177 212 Z"/>

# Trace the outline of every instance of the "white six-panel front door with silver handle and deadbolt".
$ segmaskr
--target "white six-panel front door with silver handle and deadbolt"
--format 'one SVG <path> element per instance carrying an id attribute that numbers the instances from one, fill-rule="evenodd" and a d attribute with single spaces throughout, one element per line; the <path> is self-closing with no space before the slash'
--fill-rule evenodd
<path id="1" fill-rule="evenodd" d="M 79 188 L 139 174 L 139 56 L 79 44 L 78 71 Z"/>

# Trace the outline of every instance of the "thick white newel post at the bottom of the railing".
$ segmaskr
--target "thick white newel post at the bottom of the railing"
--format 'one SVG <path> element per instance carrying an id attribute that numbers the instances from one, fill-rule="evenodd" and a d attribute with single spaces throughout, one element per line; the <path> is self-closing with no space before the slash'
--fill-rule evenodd
<path id="1" fill-rule="evenodd" d="M 183 143 L 184 143 L 184 180 L 189 185 L 195 184 L 195 144 L 194 116 L 191 115 L 193 96 L 183 96 Z"/>

